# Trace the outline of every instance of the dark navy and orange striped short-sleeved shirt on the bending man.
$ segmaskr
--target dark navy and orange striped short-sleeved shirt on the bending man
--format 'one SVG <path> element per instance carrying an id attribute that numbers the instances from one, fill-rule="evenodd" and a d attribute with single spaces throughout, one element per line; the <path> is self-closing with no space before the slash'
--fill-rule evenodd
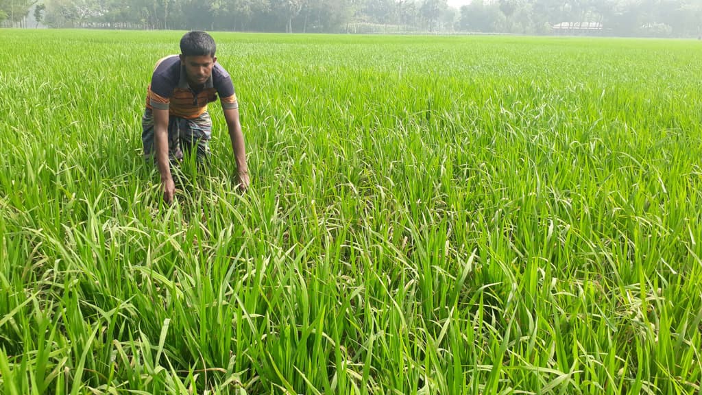
<path id="1" fill-rule="evenodd" d="M 180 63 L 180 56 L 171 55 L 154 66 L 154 75 L 147 88 L 146 107 L 168 110 L 168 114 L 175 117 L 194 119 L 207 111 L 207 103 L 216 101 L 218 94 L 222 108 L 239 108 L 232 79 L 219 63 L 212 67 L 212 75 L 202 89 L 194 91 L 187 83 L 185 65 Z"/>

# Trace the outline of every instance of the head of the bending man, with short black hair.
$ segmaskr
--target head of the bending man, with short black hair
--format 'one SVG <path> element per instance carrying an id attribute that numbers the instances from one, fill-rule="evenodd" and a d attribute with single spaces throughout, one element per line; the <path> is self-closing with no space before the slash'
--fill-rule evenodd
<path id="1" fill-rule="evenodd" d="M 212 75 L 216 49 L 215 40 L 206 32 L 187 32 L 180 39 L 180 62 L 190 83 L 204 84 Z"/>

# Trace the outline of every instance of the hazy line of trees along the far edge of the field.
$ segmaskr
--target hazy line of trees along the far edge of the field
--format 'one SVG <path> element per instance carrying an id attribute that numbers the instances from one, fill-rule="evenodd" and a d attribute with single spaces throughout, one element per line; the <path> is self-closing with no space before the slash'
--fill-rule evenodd
<path id="1" fill-rule="evenodd" d="M 33 15 L 29 15 L 29 14 Z M 702 0 L 0 0 L 6 27 L 702 36 Z M 586 22 L 586 23 L 583 23 Z"/>

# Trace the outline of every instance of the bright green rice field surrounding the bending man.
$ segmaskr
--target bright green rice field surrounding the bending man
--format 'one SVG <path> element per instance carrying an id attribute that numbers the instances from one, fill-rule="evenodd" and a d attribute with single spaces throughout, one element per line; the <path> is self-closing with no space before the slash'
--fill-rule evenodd
<path id="1" fill-rule="evenodd" d="M 213 33 L 168 206 L 182 34 L 0 30 L 1 394 L 700 391 L 700 41 Z"/>

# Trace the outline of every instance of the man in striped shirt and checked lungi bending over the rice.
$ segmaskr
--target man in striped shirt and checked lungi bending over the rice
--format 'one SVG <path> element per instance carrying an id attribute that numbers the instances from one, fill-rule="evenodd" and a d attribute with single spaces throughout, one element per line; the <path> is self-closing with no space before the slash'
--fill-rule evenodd
<path id="1" fill-rule="evenodd" d="M 173 200 L 176 190 L 170 162 L 181 162 L 183 151 L 190 153 L 192 148 L 199 162 L 210 155 L 212 121 L 207 103 L 216 101 L 218 94 L 237 162 L 239 188 L 249 186 L 237 96 L 229 73 L 217 63 L 215 50 L 209 34 L 188 32 L 180 39 L 180 55 L 166 56 L 154 67 L 141 136 L 144 155 L 156 155 L 166 202 Z"/>

